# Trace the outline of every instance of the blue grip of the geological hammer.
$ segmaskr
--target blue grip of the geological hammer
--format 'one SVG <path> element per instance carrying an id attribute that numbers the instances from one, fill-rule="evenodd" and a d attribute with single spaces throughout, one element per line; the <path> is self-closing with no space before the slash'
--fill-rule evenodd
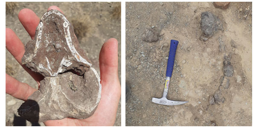
<path id="1" fill-rule="evenodd" d="M 176 49 L 177 49 L 178 44 L 179 44 L 179 41 L 171 40 L 168 64 L 167 64 L 167 69 L 166 69 L 166 76 L 167 77 L 172 77 L 174 58 L 175 58 Z"/>

